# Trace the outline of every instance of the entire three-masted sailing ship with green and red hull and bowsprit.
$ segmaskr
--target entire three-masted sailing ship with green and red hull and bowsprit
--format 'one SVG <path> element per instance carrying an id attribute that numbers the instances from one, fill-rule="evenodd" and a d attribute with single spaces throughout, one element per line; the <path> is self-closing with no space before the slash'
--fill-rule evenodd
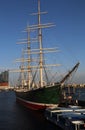
<path id="1" fill-rule="evenodd" d="M 38 0 L 38 13 L 33 13 L 33 15 L 38 16 L 38 24 L 28 25 L 25 29 L 27 39 L 20 43 L 26 43 L 26 49 L 22 51 L 22 58 L 16 60 L 17 62 L 21 62 L 21 84 L 18 86 L 18 89 L 15 89 L 16 101 L 33 110 L 59 105 L 62 100 L 61 84 L 63 84 L 79 66 L 78 62 L 60 82 L 51 83 L 49 81 L 50 75 L 47 76 L 48 73 L 46 73 L 46 71 L 49 70 L 49 67 L 56 67 L 59 66 L 59 64 L 48 65 L 45 63 L 45 53 L 56 51 L 56 48 L 43 48 L 42 29 L 54 26 L 52 23 L 41 24 L 41 15 L 45 13 L 46 12 L 41 12 L 40 0 Z M 37 38 L 31 38 L 31 36 L 35 36 L 31 33 L 38 34 Z M 38 45 L 35 46 L 33 42 Z M 32 48 L 33 46 L 36 48 Z"/>

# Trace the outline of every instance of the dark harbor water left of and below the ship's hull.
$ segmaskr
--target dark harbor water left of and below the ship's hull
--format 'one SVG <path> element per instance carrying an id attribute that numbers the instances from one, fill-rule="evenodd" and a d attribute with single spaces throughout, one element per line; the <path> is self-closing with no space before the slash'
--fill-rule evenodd
<path id="1" fill-rule="evenodd" d="M 42 112 L 28 110 L 16 102 L 13 91 L 0 92 L 0 130 L 60 130 Z"/>

